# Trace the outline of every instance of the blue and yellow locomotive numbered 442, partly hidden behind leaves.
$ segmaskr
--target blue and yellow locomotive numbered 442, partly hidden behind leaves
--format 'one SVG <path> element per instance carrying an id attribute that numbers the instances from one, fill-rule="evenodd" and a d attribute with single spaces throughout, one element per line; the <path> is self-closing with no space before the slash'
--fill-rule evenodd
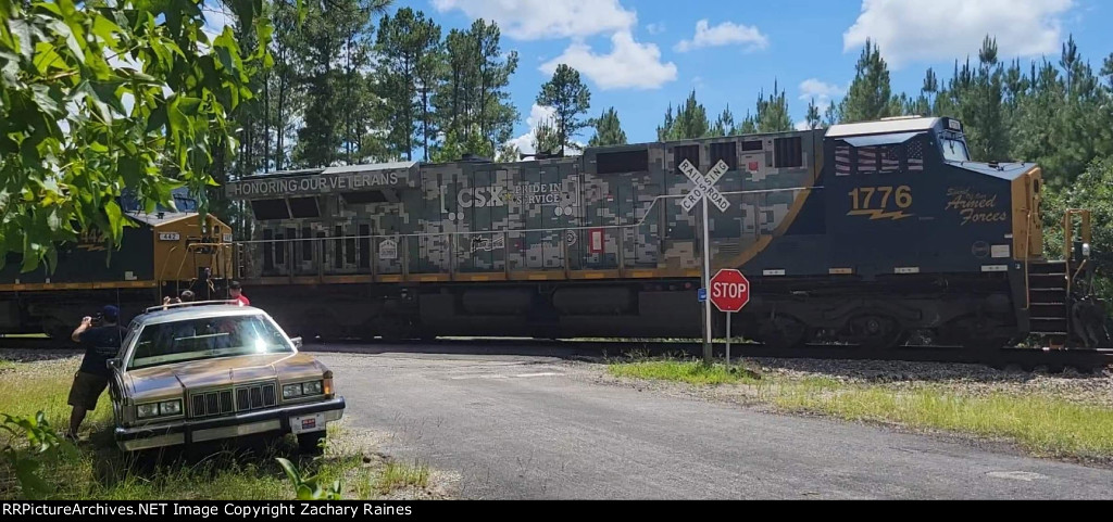
<path id="1" fill-rule="evenodd" d="M 232 270 L 232 228 L 214 215 L 204 222 L 188 189 L 173 191 L 175 208 L 147 213 L 129 197 L 119 199 L 130 222 L 120 250 L 95 230 L 58 248 L 58 267 L 21 273 L 18 254 L 0 270 L 0 333 L 46 332 L 69 339 L 81 318 L 105 304 L 127 320 L 162 295 L 191 289 L 219 295 Z"/>

